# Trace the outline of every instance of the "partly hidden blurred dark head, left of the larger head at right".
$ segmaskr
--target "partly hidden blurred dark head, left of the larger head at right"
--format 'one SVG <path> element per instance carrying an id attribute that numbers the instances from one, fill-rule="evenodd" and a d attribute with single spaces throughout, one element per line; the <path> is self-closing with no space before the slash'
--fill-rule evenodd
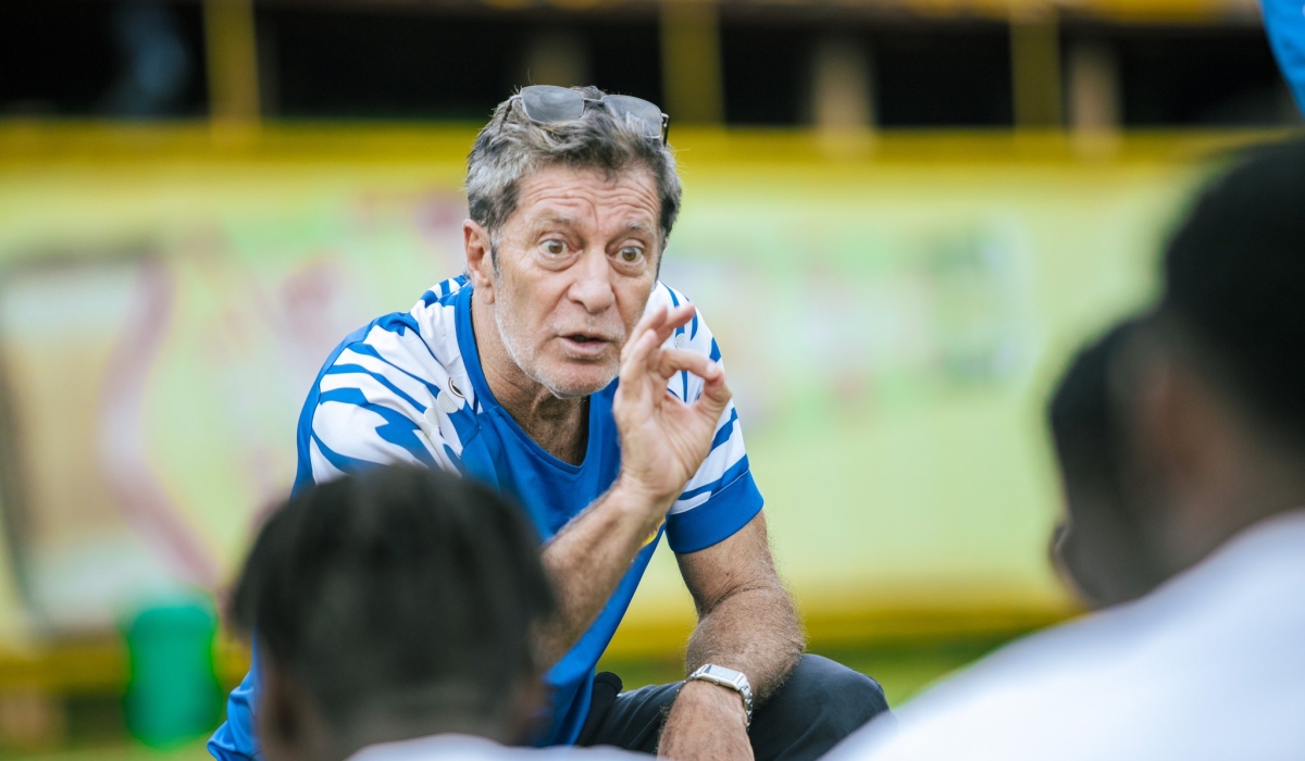
<path id="1" fill-rule="evenodd" d="M 1092 607 L 1135 599 L 1160 581 L 1126 483 L 1124 410 L 1112 390 L 1137 329 L 1135 320 L 1117 325 L 1074 356 L 1048 410 L 1066 506 L 1052 559 Z"/>

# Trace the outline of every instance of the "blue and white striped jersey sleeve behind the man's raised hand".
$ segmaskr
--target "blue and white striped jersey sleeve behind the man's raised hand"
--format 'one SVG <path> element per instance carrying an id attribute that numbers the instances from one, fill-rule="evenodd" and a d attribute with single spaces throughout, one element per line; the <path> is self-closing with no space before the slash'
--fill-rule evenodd
<path id="1" fill-rule="evenodd" d="M 683 295 L 664 285 L 659 285 L 658 291 L 672 305 L 685 302 Z M 701 315 L 676 330 L 671 345 L 699 351 L 722 362 L 720 347 Z M 671 379 L 669 390 L 688 402 L 697 401 L 702 396 L 702 379 L 685 372 L 677 373 Z M 762 504 L 761 491 L 748 469 L 739 411 L 729 402 L 716 422 L 711 452 L 684 486 L 680 499 L 671 505 L 666 518 L 667 542 L 677 553 L 706 550 L 746 526 L 761 512 Z"/>

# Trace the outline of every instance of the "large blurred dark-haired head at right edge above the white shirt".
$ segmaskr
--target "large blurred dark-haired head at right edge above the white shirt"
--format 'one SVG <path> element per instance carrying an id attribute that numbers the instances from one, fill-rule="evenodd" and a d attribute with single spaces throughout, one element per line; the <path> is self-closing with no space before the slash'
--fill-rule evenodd
<path id="1" fill-rule="evenodd" d="M 1138 534 L 1159 578 L 1305 506 L 1305 144 L 1214 181 L 1126 350 Z"/>

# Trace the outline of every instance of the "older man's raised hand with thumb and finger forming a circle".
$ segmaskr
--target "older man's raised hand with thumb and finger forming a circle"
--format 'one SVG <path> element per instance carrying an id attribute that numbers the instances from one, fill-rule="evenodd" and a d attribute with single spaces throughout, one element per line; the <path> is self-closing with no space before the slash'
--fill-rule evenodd
<path id="1" fill-rule="evenodd" d="M 639 321 L 621 352 L 612 403 L 621 441 L 620 482 L 643 493 L 663 514 L 711 452 L 716 423 L 732 396 L 718 363 L 696 351 L 663 349 L 694 312 L 692 304 L 659 307 Z M 703 381 L 702 396 L 693 403 L 667 390 L 680 371 Z"/>

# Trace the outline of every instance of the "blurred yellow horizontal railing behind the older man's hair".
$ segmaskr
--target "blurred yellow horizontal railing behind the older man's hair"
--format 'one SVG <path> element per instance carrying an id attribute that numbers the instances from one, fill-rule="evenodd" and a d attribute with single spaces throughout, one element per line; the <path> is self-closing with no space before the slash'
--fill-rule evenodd
<path id="1" fill-rule="evenodd" d="M 478 127 L 414 123 L 288 123 L 228 129 L 207 121 L 0 120 L 0 168 L 34 164 L 158 162 L 435 162 L 462 164 Z M 822 134 L 812 129 L 681 128 L 671 136 L 681 166 L 698 163 L 864 164 L 1181 162 L 1300 134 L 1298 129 L 890 131 Z"/>

